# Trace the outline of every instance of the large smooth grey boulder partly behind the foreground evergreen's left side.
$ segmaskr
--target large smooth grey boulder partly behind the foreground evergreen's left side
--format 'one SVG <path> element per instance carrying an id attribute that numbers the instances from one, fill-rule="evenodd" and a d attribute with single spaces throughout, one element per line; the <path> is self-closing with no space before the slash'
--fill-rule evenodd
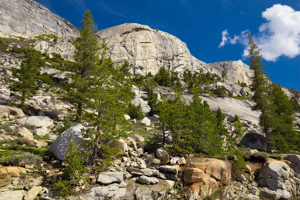
<path id="1" fill-rule="evenodd" d="M 71 139 L 74 138 L 77 145 L 81 143 L 81 131 L 85 128 L 81 124 L 77 124 L 64 132 L 62 132 L 58 137 L 53 141 L 53 143 L 49 147 L 49 151 L 53 153 L 53 155 L 57 159 L 63 159 L 66 156 L 67 147 L 71 142 Z M 78 150 L 81 150 L 80 148 Z"/>

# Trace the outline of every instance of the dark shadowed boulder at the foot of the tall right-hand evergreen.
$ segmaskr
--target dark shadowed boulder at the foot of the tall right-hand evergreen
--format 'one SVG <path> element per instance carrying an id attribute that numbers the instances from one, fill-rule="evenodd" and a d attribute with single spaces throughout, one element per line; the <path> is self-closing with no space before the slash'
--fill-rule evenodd
<path id="1" fill-rule="evenodd" d="M 257 132 L 248 132 L 240 140 L 239 146 L 245 146 L 259 151 L 266 151 L 265 137 Z"/>

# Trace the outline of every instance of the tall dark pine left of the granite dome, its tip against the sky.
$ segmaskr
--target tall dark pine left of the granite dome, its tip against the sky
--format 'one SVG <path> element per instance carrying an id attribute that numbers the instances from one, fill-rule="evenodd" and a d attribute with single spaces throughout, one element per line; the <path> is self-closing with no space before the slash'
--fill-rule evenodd
<path id="1" fill-rule="evenodd" d="M 96 27 L 93 17 L 89 10 L 84 12 L 81 21 L 81 28 L 78 29 L 79 36 L 73 39 L 74 64 L 73 81 L 71 89 L 68 90 L 65 97 L 71 103 L 77 104 L 77 115 L 80 117 L 83 113 L 82 106 L 86 104 L 88 98 L 86 92 L 91 88 L 91 78 L 95 73 L 96 64 L 99 60 L 99 42 L 96 36 Z"/>

